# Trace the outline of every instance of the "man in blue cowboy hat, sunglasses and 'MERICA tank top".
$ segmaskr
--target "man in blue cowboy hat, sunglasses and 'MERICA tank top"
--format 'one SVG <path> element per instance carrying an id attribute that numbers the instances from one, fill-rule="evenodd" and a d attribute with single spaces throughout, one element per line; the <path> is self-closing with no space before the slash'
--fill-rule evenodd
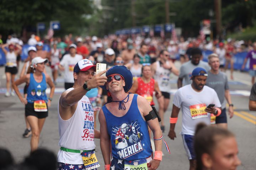
<path id="1" fill-rule="evenodd" d="M 144 97 L 127 93 L 133 77 L 125 66 L 110 68 L 106 76 L 107 83 L 100 87 L 109 92 L 112 100 L 99 113 L 100 145 L 105 170 L 157 169 L 162 159 L 162 131 L 158 119 L 154 119 L 156 117 L 148 119 L 153 109 Z M 151 158 L 148 126 L 154 135 L 154 159 Z"/>

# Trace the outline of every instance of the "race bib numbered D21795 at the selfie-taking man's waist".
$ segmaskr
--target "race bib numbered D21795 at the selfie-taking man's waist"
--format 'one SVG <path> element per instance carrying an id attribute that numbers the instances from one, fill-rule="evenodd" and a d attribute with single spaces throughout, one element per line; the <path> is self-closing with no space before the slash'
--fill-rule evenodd
<path id="1" fill-rule="evenodd" d="M 81 156 L 85 165 L 85 170 L 95 169 L 100 166 L 94 151 L 83 152 L 81 153 Z"/>

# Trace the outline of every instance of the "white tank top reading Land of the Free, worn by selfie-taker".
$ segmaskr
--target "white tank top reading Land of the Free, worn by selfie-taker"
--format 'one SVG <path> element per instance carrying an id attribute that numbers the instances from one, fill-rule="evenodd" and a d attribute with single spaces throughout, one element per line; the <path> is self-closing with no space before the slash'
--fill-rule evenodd
<path id="1" fill-rule="evenodd" d="M 67 91 L 71 91 L 70 88 Z M 78 101 L 74 115 L 63 120 L 59 114 L 59 146 L 76 149 L 92 150 L 95 148 L 94 143 L 94 111 L 87 96 L 83 96 Z M 66 164 L 83 164 L 80 153 L 65 152 L 59 150 L 58 162 Z"/>

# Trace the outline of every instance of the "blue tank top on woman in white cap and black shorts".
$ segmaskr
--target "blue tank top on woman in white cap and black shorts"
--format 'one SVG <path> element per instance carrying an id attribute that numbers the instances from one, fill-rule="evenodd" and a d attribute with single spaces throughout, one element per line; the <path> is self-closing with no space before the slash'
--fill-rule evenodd
<path id="1" fill-rule="evenodd" d="M 47 101 L 46 96 L 46 77 L 43 74 L 43 79 L 40 83 L 37 83 L 34 79 L 33 73 L 30 73 L 30 83 L 27 88 L 27 101 L 28 103 L 33 103 L 37 100 L 44 100 Z"/>

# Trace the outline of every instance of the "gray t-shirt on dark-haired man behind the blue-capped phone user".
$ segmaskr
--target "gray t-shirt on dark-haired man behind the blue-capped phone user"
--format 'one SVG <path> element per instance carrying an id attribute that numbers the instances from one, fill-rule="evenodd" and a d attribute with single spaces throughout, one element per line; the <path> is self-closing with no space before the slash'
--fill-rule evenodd
<path id="1" fill-rule="evenodd" d="M 202 68 L 206 69 L 207 72 L 208 72 L 208 70 L 210 70 L 208 63 L 204 62 L 204 61 L 200 61 L 198 65 L 192 64 L 191 61 L 188 61 L 188 62 L 182 64 L 182 66 L 180 68 L 179 78 L 183 78 L 183 83 L 182 83 L 183 86 L 192 83 L 192 80 L 190 80 L 190 77 L 191 77 L 193 69 L 195 69 L 197 67 L 202 67 Z"/>

